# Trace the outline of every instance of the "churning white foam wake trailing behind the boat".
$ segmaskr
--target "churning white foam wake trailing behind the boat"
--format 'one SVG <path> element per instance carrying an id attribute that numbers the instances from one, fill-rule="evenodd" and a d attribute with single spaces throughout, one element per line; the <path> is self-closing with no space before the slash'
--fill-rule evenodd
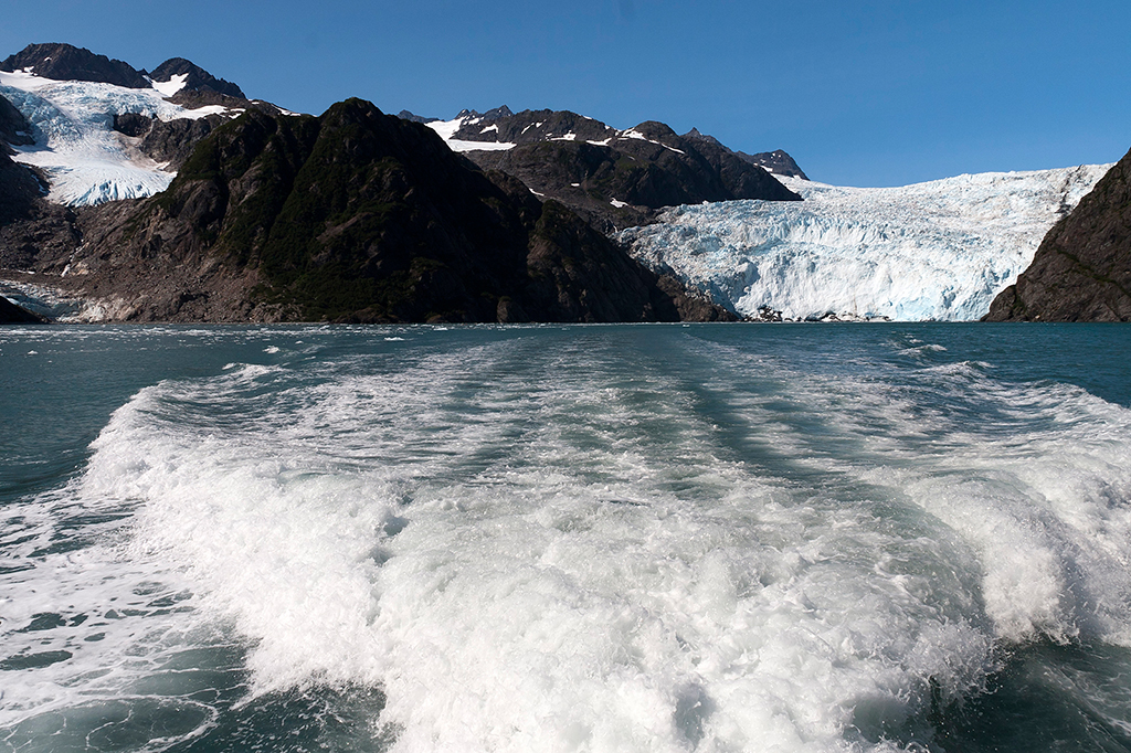
<path id="1" fill-rule="evenodd" d="M 147 388 L 74 494 L 137 505 L 120 552 L 247 637 L 256 692 L 380 687 L 397 751 L 897 750 L 998 647 L 1129 644 L 1126 410 L 922 341 L 891 350 L 926 345 L 912 379 L 829 380 L 510 335 Z M 692 390 L 681 358 L 719 367 Z M 929 407 L 949 390 L 1008 431 Z"/>

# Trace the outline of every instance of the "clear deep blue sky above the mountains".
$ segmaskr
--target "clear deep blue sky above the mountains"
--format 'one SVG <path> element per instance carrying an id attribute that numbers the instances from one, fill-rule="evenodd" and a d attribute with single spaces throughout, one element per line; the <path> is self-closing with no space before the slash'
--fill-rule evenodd
<path id="1" fill-rule="evenodd" d="M 0 57 L 69 42 L 188 58 L 320 113 L 573 110 L 659 120 L 810 178 L 900 185 L 1114 162 L 1131 148 L 1131 0 L 8 3 Z"/>

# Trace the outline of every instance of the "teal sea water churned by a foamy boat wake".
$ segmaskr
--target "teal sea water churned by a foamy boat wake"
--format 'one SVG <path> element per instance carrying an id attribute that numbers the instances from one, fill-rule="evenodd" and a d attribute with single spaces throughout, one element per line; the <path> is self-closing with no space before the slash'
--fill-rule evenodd
<path id="1" fill-rule="evenodd" d="M 0 330 L 0 750 L 1131 751 L 1131 329 Z"/>

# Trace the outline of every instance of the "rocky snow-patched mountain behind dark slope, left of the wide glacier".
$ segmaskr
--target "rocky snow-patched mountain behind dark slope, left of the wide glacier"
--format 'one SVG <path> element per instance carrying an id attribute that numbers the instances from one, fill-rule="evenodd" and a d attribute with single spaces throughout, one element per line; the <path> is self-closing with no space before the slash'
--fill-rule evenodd
<path id="1" fill-rule="evenodd" d="M 645 224 L 655 210 L 683 204 L 801 198 L 717 140 L 654 121 L 622 131 L 569 111 L 516 114 L 503 105 L 425 122 L 481 167 L 518 178 L 603 231 Z"/>

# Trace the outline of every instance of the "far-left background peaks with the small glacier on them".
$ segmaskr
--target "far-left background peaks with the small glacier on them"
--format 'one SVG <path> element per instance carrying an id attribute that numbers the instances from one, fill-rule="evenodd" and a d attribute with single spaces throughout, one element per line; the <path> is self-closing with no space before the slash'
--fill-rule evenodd
<path id="1" fill-rule="evenodd" d="M 67 76 L 78 78 L 57 78 Z M 66 206 L 153 196 L 216 126 L 248 109 L 282 112 L 180 58 L 150 78 L 62 44 L 8 58 L 0 97 L 7 150 L 38 170 L 51 201 Z"/>

